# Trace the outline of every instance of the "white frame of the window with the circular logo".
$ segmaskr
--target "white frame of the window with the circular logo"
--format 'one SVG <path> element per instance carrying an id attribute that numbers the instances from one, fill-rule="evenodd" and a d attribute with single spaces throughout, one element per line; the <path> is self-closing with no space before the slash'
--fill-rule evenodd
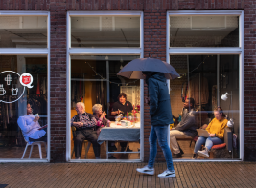
<path id="1" fill-rule="evenodd" d="M 47 48 L 0 48 L 0 55 L 43 55 L 47 56 L 47 98 L 50 100 L 50 12 L 49 11 L 12 11 L 1 10 L 0 16 L 47 16 Z M 18 158 L 0 158 L 0 162 L 50 162 L 50 102 L 47 103 L 47 158 L 46 159 L 18 159 Z M 24 148 L 25 149 L 25 148 Z M 34 151 L 35 152 L 35 151 Z M 21 156 L 20 156 L 21 157 Z"/>

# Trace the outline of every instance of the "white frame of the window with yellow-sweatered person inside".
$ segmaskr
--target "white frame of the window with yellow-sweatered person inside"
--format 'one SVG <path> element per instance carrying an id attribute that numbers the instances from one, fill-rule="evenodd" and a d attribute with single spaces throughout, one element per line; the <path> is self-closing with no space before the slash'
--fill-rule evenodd
<path id="1" fill-rule="evenodd" d="M 170 47 L 170 16 L 184 15 L 222 15 L 239 16 L 239 47 Z M 170 64 L 170 55 L 202 55 L 202 54 L 238 54 L 239 55 L 239 86 L 240 86 L 240 158 L 237 160 L 200 160 L 200 161 L 241 161 L 244 160 L 244 10 L 175 10 L 167 11 L 166 15 L 166 60 Z M 170 84 L 169 84 L 170 85 Z M 170 133 L 168 136 L 170 139 Z M 170 140 L 169 140 L 170 143 Z M 178 159 L 175 161 L 195 161 Z"/>

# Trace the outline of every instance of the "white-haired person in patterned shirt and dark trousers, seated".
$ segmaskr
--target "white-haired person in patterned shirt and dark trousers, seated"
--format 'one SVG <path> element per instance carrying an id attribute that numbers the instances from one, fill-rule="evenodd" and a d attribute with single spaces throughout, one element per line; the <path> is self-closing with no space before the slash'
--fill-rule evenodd
<path id="1" fill-rule="evenodd" d="M 85 113 L 84 103 L 76 104 L 78 115 L 71 119 L 71 126 L 76 127 L 76 137 L 74 137 L 74 148 L 76 159 L 81 158 L 82 142 L 86 139 L 93 144 L 93 150 L 96 159 L 100 159 L 100 145 L 97 142 L 97 134 L 95 131 L 96 119 L 93 115 Z"/>

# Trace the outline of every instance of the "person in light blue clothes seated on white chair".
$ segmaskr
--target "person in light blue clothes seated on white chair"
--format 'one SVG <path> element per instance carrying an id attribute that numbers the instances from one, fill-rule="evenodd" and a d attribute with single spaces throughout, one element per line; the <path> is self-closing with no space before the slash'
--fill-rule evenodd
<path id="1" fill-rule="evenodd" d="M 31 105 L 27 105 L 27 115 L 20 116 L 17 120 L 18 126 L 20 127 L 25 140 L 29 143 L 35 141 L 47 142 L 47 128 L 41 129 L 38 123 L 39 116 L 32 114 L 33 110 Z M 41 129 L 41 130 L 39 130 Z"/>

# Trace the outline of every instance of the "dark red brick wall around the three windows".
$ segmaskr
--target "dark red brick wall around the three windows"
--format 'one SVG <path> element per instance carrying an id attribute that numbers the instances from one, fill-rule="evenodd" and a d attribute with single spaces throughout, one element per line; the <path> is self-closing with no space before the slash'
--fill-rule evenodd
<path id="1" fill-rule="evenodd" d="M 256 159 L 256 22 L 253 0 L 9 0 L 0 10 L 51 12 L 51 161 L 65 161 L 66 151 L 66 10 L 143 10 L 145 57 L 166 60 L 167 10 L 244 10 L 245 159 Z M 145 91 L 146 92 L 146 91 Z M 145 105 L 145 160 L 149 156 L 149 107 Z M 157 158 L 163 159 L 162 153 Z"/>

